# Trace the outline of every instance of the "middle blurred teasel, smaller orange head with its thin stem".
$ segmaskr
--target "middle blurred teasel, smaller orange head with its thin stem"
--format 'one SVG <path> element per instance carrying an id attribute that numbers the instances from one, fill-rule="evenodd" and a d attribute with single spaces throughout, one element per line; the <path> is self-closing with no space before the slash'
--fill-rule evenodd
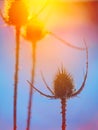
<path id="1" fill-rule="evenodd" d="M 39 21 L 31 19 L 28 24 L 25 26 L 25 33 L 23 37 L 30 41 L 32 44 L 32 71 L 31 71 L 31 83 L 34 84 L 35 79 L 35 69 L 36 69 L 36 45 L 37 42 L 40 41 L 44 36 L 44 27 L 39 23 Z M 27 130 L 30 129 L 30 122 L 31 122 L 31 109 L 32 109 L 32 94 L 33 88 L 30 87 L 29 92 L 29 102 L 28 102 L 28 118 L 27 118 Z"/>

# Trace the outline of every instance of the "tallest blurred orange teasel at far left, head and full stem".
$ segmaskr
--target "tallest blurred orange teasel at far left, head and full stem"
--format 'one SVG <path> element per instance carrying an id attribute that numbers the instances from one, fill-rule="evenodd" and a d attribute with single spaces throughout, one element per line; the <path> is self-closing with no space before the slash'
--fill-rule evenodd
<path id="1" fill-rule="evenodd" d="M 28 10 L 23 0 L 9 0 L 5 8 L 6 15 L 0 15 L 8 25 L 15 26 L 16 30 L 16 54 L 15 54 L 15 74 L 14 74 L 14 102 L 13 102 L 13 130 L 17 129 L 17 91 L 18 91 L 18 70 L 20 51 L 20 29 L 28 20 Z"/>

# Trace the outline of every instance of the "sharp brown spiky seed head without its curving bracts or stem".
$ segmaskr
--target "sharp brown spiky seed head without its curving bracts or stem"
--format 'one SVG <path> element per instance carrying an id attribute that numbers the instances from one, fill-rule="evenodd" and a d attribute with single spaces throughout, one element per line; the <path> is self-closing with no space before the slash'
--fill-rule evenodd
<path id="1" fill-rule="evenodd" d="M 72 76 L 62 67 L 54 79 L 54 94 L 56 98 L 69 98 L 74 91 Z"/>

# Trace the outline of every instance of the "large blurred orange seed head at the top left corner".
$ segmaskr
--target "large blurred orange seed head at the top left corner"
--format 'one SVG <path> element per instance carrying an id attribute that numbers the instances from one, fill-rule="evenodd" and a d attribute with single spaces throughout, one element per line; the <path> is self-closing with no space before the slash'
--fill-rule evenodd
<path id="1" fill-rule="evenodd" d="M 10 25 L 21 27 L 27 22 L 28 9 L 23 0 L 11 0 L 6 10 L 6 18 Z"/>

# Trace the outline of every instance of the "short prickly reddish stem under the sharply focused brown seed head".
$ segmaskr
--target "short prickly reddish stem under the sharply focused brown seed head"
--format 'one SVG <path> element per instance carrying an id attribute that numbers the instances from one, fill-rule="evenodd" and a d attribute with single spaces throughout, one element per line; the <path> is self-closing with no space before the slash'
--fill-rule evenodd
<path id="1" fill-rule="evenodd" d="M 66 130 L 66 98 L 61 98 L 62 130 Z"/>

